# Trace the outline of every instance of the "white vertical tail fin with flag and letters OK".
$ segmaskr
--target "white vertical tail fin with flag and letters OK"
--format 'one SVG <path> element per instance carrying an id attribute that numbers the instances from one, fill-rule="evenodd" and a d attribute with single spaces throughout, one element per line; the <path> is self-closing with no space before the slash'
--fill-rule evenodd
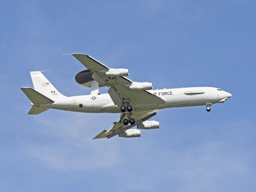
<path id="1" fill-rule="evenodd" d="M 56 88 L 49 82 L 41 71 L 32 71 L 30 72 L 30 76 L 32 78 L 34 89 L 40 94 L 53 100 L 60 97 L 65 97 L 58 92 L 58 90 L 56 90 Z"/>

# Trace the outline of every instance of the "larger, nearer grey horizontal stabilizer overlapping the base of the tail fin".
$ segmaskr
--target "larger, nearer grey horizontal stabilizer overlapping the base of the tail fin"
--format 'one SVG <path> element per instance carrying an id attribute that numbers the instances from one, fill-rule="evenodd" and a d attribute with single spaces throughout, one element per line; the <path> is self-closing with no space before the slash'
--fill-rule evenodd
<path id="1" fill-rule="evenodd" d="M 50 104 L 53 100 L 29 87 L 20 88 L 33 104 Z"/>

